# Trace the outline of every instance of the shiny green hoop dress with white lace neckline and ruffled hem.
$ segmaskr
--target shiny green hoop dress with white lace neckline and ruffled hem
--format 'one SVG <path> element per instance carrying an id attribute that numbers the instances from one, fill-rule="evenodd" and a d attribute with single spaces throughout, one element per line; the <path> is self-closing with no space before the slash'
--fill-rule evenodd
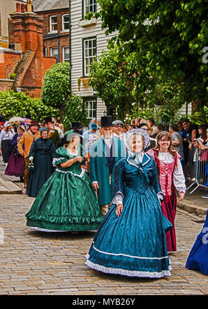
<path id="1" fill-rule="evenodd" d="M 31 210 L 26 214 L 26 225 L 40 231 L 96 230 L 103 220 L 92 182 L 80 162 L 63 168 L 75 157 L 60 147 L 56 150 L 53 175 L 44 183 Z"/>

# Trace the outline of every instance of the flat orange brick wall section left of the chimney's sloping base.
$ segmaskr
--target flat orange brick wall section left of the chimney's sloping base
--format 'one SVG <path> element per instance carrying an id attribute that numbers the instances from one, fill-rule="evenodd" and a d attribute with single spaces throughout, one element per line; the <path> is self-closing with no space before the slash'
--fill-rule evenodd
<path id="1" fill-rule="evenodd" d="M 0 78 L 10 78 L 10 74 L 14 71 L 17 62 L 21 58 L 21 54 L 12 52 L 4 52 L 0 54 Z"/>

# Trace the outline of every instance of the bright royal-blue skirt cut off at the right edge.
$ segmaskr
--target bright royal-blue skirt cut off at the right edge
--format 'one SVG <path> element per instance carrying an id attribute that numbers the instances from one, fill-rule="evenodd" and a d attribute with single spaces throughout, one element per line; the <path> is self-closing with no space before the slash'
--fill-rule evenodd
<path id="1" fill-rule="evenodd" d="M 202 231 L 189 253 L 186 268 L 198 269 L 202 274 L 208 275 L 208 212 Z"/>

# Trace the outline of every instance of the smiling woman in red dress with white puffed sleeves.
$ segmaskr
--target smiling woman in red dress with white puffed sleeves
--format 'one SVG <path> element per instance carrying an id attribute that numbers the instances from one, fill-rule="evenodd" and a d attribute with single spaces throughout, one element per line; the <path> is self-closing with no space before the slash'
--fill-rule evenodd
<path id="1" fill-rule="evenodd" d="M 173 151 L 171 134 L 162 131 L 157 136 L 157 146 L 148 152 L 157 163 L 158 178 L 164 194 L 162 213 L 173 224 L 173 228 L 166 233 L 168 251 L 176 251 L 175 215 L 177 206 L 176 190 L 179 192 L 180 201 L 186 192 L 185 178 L 180 162 L 180 155 Z M 176 190 L 175 190 L 176 189 Z"/>

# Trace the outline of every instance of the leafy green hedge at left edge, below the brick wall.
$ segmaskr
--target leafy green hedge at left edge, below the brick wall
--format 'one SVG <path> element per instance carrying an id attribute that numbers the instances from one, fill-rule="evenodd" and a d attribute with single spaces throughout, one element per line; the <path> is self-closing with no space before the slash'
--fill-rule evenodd
<path id="1" fill-rule="evenodd" d="M 1 115 L 8 120 L 11 117 L 26 117 L 31 115 L 31 119 L 42 121 L 47 116 L 58 116 L 58 109 L 45 106 L 41 99 L 32 99 L 24 92 L 0 92 L 0 111 Z"/>

